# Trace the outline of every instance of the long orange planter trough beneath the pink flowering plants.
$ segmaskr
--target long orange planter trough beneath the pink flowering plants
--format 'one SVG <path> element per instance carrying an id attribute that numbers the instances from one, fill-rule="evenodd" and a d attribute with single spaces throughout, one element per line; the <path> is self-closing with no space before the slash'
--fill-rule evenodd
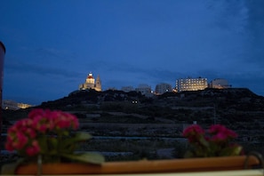
<path id="1" fill-rule="evenodd" d="M 106 162 L 104 164 L 43 164 L 42 174 L 117 174 L 117 173 L 161 173 L 161 172 L 207 172 L 243 170 L 247 156 L 222 156 L 171 160 L 141 160 Z M 256 156 L 249 156 L 247 169 L 259 165 Z M 21 165 L 17 174 L 36 174 L 37 165 Z"/>

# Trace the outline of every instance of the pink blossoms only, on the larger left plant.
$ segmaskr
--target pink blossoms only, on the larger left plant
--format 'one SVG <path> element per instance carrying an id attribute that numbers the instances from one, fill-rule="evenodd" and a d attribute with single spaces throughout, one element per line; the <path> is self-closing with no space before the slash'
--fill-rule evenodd
<path id="1" fill-rule="evenodd" d="M 28 118 L 21 119 L 8 130 L 5 148 L 17 150 L 21 155 L 36 156 L 44 152 L 41 140 L 59 135 L 61 132 L 76 130 L 79 126 L 76 116 L 49 109 L 35 109 Z M 47 139 L 46 139 L 47 140 Z"/>

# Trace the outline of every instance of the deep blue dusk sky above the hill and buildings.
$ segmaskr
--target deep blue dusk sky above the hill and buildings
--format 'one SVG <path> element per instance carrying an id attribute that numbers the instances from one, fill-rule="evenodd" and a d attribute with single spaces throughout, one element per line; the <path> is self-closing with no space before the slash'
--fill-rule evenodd
<path id="1" fill-rule="evenodd" d="M 264 95 L 263 0 L 8 0 L 4 100 L 68 96 L 89 72 L 102 89 L 225 78 Z"/>

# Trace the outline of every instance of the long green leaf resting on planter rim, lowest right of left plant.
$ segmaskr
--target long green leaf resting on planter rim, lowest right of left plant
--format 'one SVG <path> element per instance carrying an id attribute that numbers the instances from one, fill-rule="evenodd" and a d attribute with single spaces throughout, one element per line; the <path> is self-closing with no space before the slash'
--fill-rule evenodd
<path id="1" fill-rule="evenodd" d="M 61 154 L 71 160 L 89 163 L 89 164 L 102 164 L 105 162 L 104 156 L 97 153 L 82 153 L 82 154 Z"/>

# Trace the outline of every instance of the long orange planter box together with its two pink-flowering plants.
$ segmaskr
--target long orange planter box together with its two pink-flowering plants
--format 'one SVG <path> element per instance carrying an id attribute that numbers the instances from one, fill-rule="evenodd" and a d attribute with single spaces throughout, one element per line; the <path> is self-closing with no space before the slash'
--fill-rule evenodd
<path id="1" fill-rule="evenodd" d="M 183 136 L 188 138 L 190 145 L 186 153 L 188 158 L 105 163 L 100 155 L 75 153 L 76 141 L 91 138 L 84 132 L 69 132 L 69 129 L 76 130 L 77 126 L 76 117 L 68 113 L 43 109 L 30 112 L 26 120 L 14 124 L 8 131 L 6 148 L 15 149 L 24 156 L 23 164 L 16 167 L 14 173 L 207 172 L 250 169 L 252 165 L 260 164 L 260 157 L 242 155 L 242 147 L 232 141 L 236 133 L 220 124 L 212 125 L 208 131 L 199 125 L 191 125 L 184 130 Z M 86 164 L 68 164 L 69 161 L 82 161 Z"/>

